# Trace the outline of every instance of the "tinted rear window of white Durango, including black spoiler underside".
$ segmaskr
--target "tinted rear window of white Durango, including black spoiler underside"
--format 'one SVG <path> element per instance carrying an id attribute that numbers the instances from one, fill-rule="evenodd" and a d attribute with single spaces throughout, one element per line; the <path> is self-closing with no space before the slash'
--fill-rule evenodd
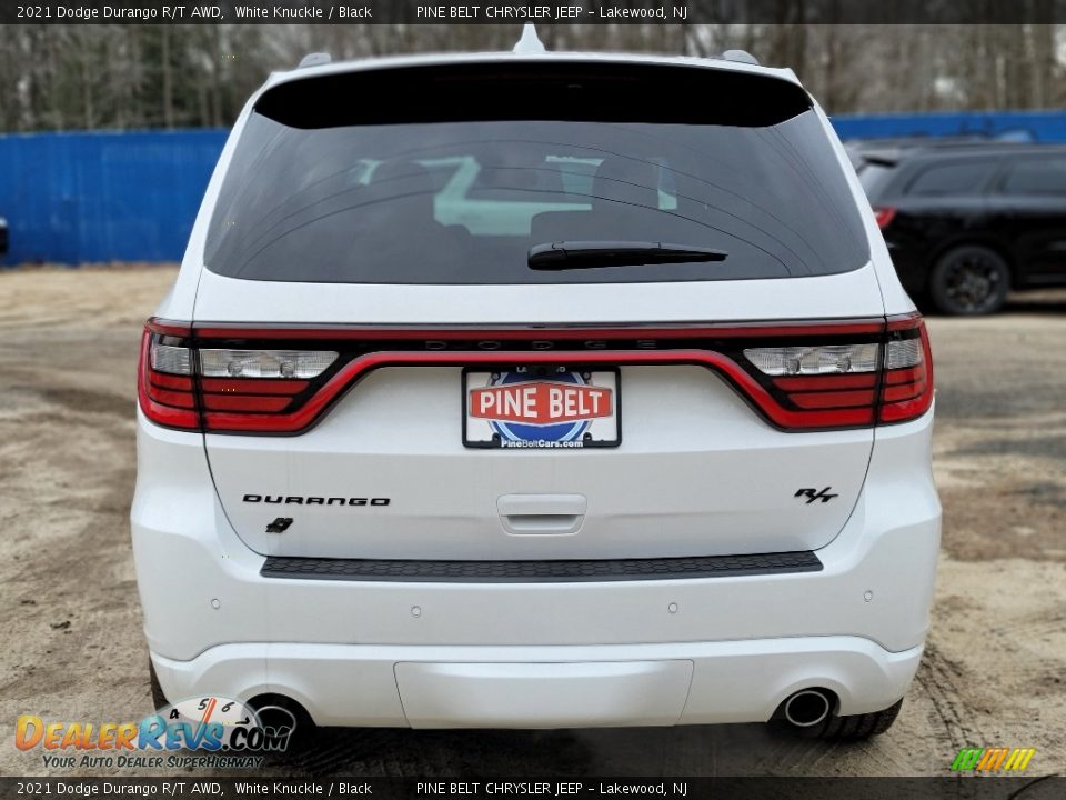
<path id="1" fill-rule="evenodd" d="M 726 258 L 530 269 L 531 248 L 559 241 Z M 802 89 L 724 70 L 581 63 L 281 84 L 241 133 L 205 247 L 208 268 L 224 276 L 343 283 L 777 278 L 867 260 Z"/>

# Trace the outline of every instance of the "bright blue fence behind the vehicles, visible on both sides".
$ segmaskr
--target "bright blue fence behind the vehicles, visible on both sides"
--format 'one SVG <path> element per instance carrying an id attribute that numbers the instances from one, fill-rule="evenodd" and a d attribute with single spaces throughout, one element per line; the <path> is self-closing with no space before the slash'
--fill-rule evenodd
<path id="1" fill-rule="evenodd" d="M 835 117 L 843 139 L 983 134 L 1066 142 L 1066 111 Z M 177 261 L 225 131 L 0 137 L 0 263 Z"/>

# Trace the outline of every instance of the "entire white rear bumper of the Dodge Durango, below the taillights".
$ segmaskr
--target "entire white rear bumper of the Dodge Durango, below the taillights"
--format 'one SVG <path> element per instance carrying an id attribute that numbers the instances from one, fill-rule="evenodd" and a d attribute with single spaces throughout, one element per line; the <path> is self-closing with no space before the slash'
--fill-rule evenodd
<path id="1" fill-rule="evenodd" d="M 404 582 L 263 576 L 266 557 L 219 507 L 202 440 L 141 420 L 131 518 L 145 634 L 171 699 L 280 692 L 323 724 L 756 721 L 811 686 L 841 713 L 879 710 L 904 694 L 928 626 L 931 431 L 932 412 L 877 429 L 819 571 Z M 523 693 L 536 703 L 493 700 Z"/>

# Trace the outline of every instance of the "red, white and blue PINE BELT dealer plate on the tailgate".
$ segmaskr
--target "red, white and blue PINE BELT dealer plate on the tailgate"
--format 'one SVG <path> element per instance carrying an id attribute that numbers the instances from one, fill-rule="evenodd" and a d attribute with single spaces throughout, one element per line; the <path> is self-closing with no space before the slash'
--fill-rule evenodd
<path id="1" fill-rule="evenodd" d="M 617 369 L 463 370 L 466 447 L 576 450 L 621 441 Z"/>

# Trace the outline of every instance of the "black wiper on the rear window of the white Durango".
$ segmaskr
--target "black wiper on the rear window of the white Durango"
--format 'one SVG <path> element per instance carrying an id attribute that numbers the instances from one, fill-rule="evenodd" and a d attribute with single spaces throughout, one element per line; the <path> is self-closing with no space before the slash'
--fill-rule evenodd
<path id="1" fill-rule="evenodd" d="M 632 241 L 561 241 L 530 248 L 530 269 L 566 270 L 592 267 L 642 267 L 644 264 L 725 261 L 724 250 L 693 244 Z"/>

